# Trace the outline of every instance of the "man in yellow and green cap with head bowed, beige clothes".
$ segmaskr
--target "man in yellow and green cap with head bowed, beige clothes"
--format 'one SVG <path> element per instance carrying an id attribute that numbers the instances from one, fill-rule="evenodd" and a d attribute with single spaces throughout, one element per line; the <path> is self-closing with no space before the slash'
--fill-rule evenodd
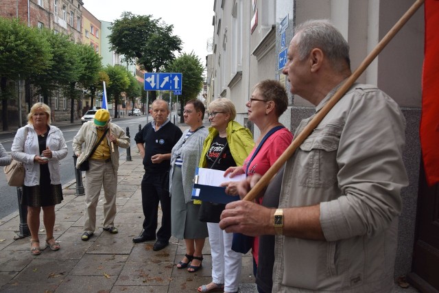
<path id="1" fill-rule="evenodd" d="M 82 124 L 73 138 L 73 152 L 78 156 L 76 168 L 88 162 L 85 171 L 85 223 L 81 239 L 86 241 L 95 232 L 96 206 L 104 187 L 104 231 L 116 234 L 117 170 L 119 169 L 119 147 L 128 148 L 130 138 L 123 129 L 110 122 L 106 109 L 96 111 L 95 119 Z M 84 167 L 84 166 L 83 166 Z M 81 168 L 83 169 L 83 168 Z"/>

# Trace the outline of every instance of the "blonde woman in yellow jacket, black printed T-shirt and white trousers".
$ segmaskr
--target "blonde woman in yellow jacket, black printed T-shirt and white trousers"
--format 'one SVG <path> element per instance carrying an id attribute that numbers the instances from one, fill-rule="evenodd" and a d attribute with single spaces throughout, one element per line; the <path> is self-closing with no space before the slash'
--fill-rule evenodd
<path id="1" fill-rule="evenodd" d="M 219 98 L 209 104 L 211 127 L 204 141 L 199 167 L 225 171 L 244 163 L 244 159 L 253 149 L 254 141 L 250 130 L 234 121 L 235 117 L 235 105 L 230 99 Z M 200 286 L 198 292 L 237 292 L 239 288 L 241 253 L 231 249 L 233 233 L 222 231 L 218 222 L 219 219 L 215 223 L 207 223 L 211 244 L 212 282 Z"/>

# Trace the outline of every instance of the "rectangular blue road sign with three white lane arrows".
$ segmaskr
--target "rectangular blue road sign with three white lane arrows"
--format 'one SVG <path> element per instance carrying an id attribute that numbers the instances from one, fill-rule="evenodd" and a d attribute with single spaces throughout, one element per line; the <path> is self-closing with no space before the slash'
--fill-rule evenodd
<path id="1" fill-rule="evenodd" d="M 181 91 L 182 73 L 145 73 L 145 91 Z"/>

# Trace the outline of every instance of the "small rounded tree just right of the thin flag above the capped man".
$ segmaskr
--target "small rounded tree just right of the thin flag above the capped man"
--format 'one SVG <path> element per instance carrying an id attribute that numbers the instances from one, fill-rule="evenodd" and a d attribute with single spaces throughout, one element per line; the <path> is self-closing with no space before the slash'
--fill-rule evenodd
<path id="1" fill-rule="evenodd" d="M 107 99 L 111 102 L 112 99 L 115 100 L 115 118 L 119 117 L 119 99 L 121 93 L 128 89 L 130 86 L 130 78 L 128 78 L 128 71 L 125 67 L 121 65 L 107 65 L 104 71 L 108 74 L 110 82 L 106 86 Z"/>

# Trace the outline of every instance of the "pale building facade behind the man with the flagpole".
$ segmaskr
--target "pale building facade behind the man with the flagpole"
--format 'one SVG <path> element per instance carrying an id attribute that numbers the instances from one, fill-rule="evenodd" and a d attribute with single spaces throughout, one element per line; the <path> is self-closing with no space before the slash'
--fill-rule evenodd
<path id="1" fill-rule="evenodd" d="M 414 3 L 412 0 L 215 0 L 212 71 L 207 76 L 208 100 L 228 97 L 237 121 L 247 122 L 246 101 L 257 82 L 270 78 L 289 83 L 281 69 L 296 24 L 329 19 L 351 47 L 353 71 Z M 421 227 L 439 226 L 439 191 L 426 187 L 420 161 L 419 123 L 423 66 L 424 19 L 421 8 L 361 74 L 358 82 L 376 84 L 401 107 L 407 121 L 404 162 L 410 185 L 403 189 L 395 277 L 408 276 L 418 288 L 439 290 L 439 241 L 423 239 Z M 294 132 L 313 106 L 289 94 L 289 110 L 281 122 Z M 252 129 L 258 137 L 257 129 Z M 432 204 L 421 204 L 425 198 Z M 431 197 L 434 198 L 431 200 Z M 436 202 L 436 204 L 433 204 Z M 426 222 L 420 215 L 428 213 Z M 430 216 L 431 215 L 431 216 Z M 434 229 L 434 228 L 432 228 Z M 423 287 L 427 286 L 427 287 Z"/>

